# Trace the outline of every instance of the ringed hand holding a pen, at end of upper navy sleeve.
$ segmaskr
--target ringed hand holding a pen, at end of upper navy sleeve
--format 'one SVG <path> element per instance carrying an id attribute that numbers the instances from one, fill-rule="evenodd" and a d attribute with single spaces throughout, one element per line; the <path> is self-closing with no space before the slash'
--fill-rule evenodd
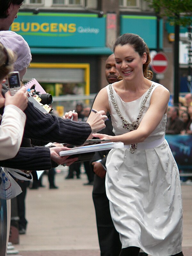
<path id="1" fill-rule="evenodd" d="M 87 119 L 87 123 L 91 126 L 92 132 L 99 132 L 105 128 L 106 114 L 104 110 L 92 112 Z"/>

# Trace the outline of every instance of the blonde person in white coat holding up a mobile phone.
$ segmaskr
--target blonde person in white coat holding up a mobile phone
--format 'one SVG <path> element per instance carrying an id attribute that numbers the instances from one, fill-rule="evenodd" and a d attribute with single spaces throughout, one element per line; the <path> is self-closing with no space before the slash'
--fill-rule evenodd
<path id="1" fill-rule="evenodd" d="M 2 96 L 4 78 L 12 71 L 14 54 L 0 44 L 0 108 L 5 106 L 3 116 L 0 115 L 0 160 L 16 156 L 25 126 L 28 97 L 25 88 L 21 88 L 14 96 L 8 91 Z"/>

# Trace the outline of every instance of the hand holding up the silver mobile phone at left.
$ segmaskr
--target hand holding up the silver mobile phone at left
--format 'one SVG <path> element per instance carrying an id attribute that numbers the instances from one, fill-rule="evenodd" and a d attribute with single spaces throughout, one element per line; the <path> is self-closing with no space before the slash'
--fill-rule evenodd
<path id="1" fill-rule="evenodd" d="M 17 91 L 13 96 L 11 96 L 9 91 L 5 93 L 5 106 L 15 105 L 23 111 L 27 108 L 27 104 L 28 92 L 26 91 L 24 86 L 21 87 L 21 89 Z"/>

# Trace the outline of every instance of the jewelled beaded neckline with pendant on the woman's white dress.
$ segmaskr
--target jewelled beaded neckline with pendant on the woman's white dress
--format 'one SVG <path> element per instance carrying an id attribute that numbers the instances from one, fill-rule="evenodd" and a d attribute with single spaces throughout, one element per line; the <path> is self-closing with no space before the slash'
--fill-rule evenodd
<path id="1" fill-rule="evenodd" d="M 115 97 L 113 95 L 113 88 L 112 88 L 112 84 L 109 84 L 109 93 L 110 93 L 110 97 L 111 97 L 111 102 L 113 103 L 113 106 L 117 112 L 117 115 L 121 118 L 122 120 L 122 127 L 127 129 L 128 132 L 131 132 L 131 131 L 134 131 L 134 130 L 137 130 L 137 128 L 139 127 L 139 120 L 143 114 L 143 111 L 144 111 L 144 107 L 145 107 L 145 103 L 149 97 L 149 94 L 151 93 L 153 87 L 155 86 L 155 84 L 152 84 L 151 87 L 148 89 L 148 92 L 147 94 L 145 95 L 142 103 L 141 103 L 141 107 L 140 107 L 140 111 L 139 111 L 139 114 L 137 116 L 137 119 L 135 121 L 133 121 L 132 123 L 129 123 L 127 120 L 124 119 L 124 117 L 121 115 L 120 111 L 119 111 L 119 108 L 117 107 L 117 103 L 116 103 L 116 100 L 115 100 Z M 137 143 L 135 144 L 131 144 L 130 145 L 130 152 L 133 154 L 135 149 L 137 148 Z"/>

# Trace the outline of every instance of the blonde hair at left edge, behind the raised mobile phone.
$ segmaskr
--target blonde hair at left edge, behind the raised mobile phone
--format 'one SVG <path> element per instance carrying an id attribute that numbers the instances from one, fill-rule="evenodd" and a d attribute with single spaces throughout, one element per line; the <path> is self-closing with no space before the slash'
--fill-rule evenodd
<path id="1" fill-rule="evenodd" d="M 0 81 L 13 71 L 16 55 L 0 43 Z"/>

